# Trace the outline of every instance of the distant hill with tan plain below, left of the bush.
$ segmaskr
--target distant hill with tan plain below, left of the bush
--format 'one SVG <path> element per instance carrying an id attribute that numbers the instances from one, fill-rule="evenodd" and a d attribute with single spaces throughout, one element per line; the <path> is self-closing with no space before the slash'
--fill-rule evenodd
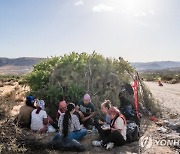
<path id="1" fill-rule="evenodd" d="M 0 75 L 22 75 L 32 71 L 33 65 L 45 58 L 22 57 L 3 58 L 0 57 Z"/>

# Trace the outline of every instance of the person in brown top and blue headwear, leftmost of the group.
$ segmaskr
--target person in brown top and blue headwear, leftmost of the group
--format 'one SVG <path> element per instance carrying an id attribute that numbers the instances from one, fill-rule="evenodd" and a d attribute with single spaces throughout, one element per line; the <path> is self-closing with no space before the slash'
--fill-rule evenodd
<path id="1" fill-rule="evenodd" d="M 26 97 L 26 105 L 20 108 L 17 116 L 17 122 L 20 127 L 30 128 L 31 113 L 36 108 L 34 102 L 35 99 L 32 95 Z"/>

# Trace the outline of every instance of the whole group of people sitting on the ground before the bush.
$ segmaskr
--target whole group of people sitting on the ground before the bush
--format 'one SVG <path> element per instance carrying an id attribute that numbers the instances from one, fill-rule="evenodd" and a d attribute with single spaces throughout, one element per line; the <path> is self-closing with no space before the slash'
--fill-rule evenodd
<path id="1" fill-rule="evenodd" d="M 26 98 L 26 106 L 21 107 L 18 121 L 21 126 L 29 127 L 37 133 L 45 133 L 49 126 L 57 123 L 58 132 L 64 138 L 81 140 L 88 130 L 95 127 L 98 130 L 100 140 L 93 141 L 93 146 L 101 146 L 106 149 L 114 145 L 121 146 L 126 143 L 126 119 L 119 109 L 111 105 L 109 100 L 101 104 L 104 120 L 94 120 L 95 107 L 89 94 L 85 94 L 82 101 L 74 103 L 59 102 L 59 108 L 54 122 L 45 111 L 45 102 L 37 100 L 33 96 Z"/>

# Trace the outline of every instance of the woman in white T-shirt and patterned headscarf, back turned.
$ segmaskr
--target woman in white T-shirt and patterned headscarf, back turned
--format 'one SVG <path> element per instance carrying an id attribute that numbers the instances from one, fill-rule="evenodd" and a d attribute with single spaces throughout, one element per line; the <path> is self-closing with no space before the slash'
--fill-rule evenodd
<path id="1" fill-rule="evenodd" d="M 46 133 L 48 129 L 48 115 L 44 111 L 45 102 L 38 100 L 36 104 L 37 109 L 31 113 L 31 129 L 38 133 Z"/>

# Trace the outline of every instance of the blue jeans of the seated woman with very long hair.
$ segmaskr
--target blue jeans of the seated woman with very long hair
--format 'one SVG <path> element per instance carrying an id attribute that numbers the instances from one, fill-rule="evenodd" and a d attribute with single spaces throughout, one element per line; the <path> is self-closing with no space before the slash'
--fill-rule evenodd
<path id="1" fill-rule="evenodd" d="M 87 130 L 83 128 L 78 131 L 70 132 L 68 137 L 75 140 L 81 140 L 83 136 L 85 136 L 86 134 L 87 134 Z"/>

